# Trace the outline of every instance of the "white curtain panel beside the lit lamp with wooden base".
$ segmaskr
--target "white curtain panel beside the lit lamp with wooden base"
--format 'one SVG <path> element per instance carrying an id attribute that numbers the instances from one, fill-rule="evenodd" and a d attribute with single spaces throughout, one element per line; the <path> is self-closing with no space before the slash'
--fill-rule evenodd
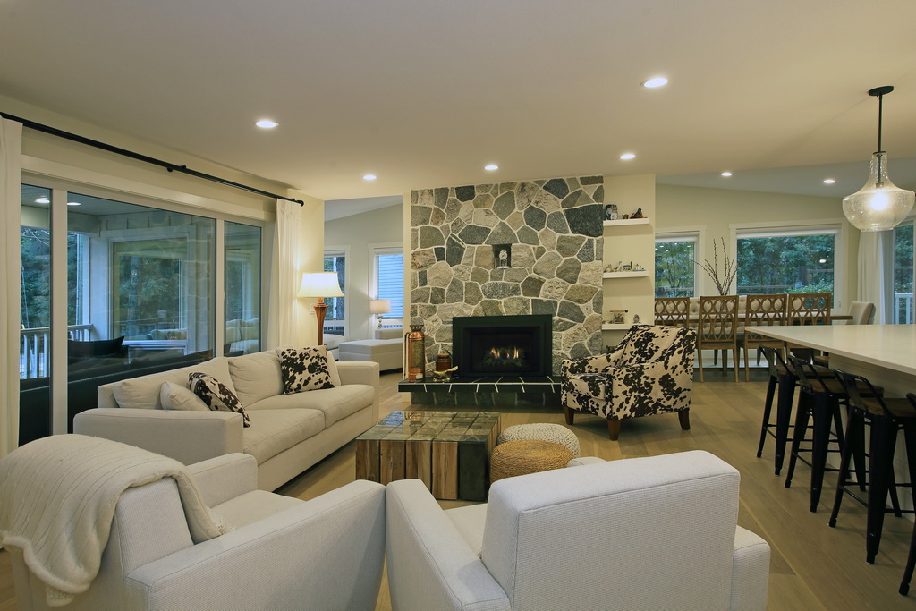
<path id="1" fill-rule="evenodd" d="M 277 261 L 277 332 L 280 344 L 289 344 L 299 333 L 299 308 L 296 293 L 302 275 L 299 269 L 299 240 L 302 206 L 296 202 L 277 200 L 276 243 Z"/>

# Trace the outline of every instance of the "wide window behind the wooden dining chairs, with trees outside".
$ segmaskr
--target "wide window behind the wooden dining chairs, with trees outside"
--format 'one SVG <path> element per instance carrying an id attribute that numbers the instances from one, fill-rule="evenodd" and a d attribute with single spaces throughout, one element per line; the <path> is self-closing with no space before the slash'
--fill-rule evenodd
<path id="1" fill-rule="evenodd" d="M 738 230 L 737 294 L 834 293 L 839 226 Z M 834 294 L 833 307 L 840 306 Z"/>

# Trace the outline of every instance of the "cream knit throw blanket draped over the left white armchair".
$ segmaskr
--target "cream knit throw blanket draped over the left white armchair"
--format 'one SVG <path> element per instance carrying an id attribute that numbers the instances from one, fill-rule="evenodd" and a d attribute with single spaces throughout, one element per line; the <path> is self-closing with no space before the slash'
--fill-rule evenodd
<path id="1" fill-rule="evenodd" d="M 121 493 L 163 477 L 178 483 L 195 543 L 222 534 L 178 461 L 83 435 L 27 443 L 0 460 L 0 546 L 22 550 L 49 606 L 66 605 L 99 572 Z"/>

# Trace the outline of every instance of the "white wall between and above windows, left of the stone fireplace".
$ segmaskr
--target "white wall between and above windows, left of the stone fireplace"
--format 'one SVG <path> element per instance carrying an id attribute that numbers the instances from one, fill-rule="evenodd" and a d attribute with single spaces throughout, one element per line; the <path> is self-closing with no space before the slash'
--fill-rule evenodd
<path id="1" fill-rule="evenodd" d="M 347 249 L 347 337 L 352 340 L 373 336 L 376 320 L 369 313 L 372 294 L 372 248 L 404 245 L 404 206 L 397 204 L 366 213 L 344 216 L 324 224 L 324 245 Z M 314 320 L 314 317 L 311 318 Z"/>

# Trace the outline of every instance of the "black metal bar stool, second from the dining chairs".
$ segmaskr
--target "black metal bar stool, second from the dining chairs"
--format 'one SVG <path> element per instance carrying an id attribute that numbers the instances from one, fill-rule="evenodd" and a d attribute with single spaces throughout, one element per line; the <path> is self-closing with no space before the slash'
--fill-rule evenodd
<path id="1" fill-rule="evenodd" d="M 834 378 L 820 377 L 814 366 L 807 360 L 798 356 L 789 357 L 795 375 L 798 376 L 799 405 L 795 410 L 795 428 L 792 431 L 792 447 L 789 454 L 789 471 L 786 474 L 786 487 L 792 483 L 795 474 L 795 464 L 798 460 L 811 467 L 811 510 L 817 511 L 821 502 L 823 474 L 828 471 L 838 471 L 827 467 L 827 454 L 842 452 L 843 450 L 843 420 L 840 416 L 840 404 L 845 404 L 845 389 Z M 810 400 L 802 401 L 802 395 L 807 395 Z M 802 449 L 805 431 L 808 430 L 808 420 L 812 420 L 812 447 Z M 835 435 L 831 437 L 831 424 Z M 829 448 L 830 442 L 835 442 L 838 450 Z M 801 453 L 811 453 L 811 462 L 801 458 Z M 859 464 L 856 461 L 856 464 Z"/>

